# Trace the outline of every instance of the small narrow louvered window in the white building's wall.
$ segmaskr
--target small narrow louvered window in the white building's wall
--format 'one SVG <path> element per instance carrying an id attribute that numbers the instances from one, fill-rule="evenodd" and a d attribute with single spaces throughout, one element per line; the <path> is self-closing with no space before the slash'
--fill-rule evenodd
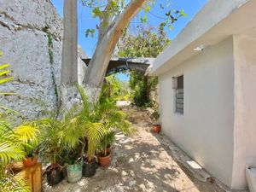
<path id="1" fill-rule="evenodd" d="M 183 75 L 177 77 L 177 89 L 176 89 L 176 98 L 175 104 L 177 113 L 183 114 L 184 112 L 184 89 L 183 89 Z"/>

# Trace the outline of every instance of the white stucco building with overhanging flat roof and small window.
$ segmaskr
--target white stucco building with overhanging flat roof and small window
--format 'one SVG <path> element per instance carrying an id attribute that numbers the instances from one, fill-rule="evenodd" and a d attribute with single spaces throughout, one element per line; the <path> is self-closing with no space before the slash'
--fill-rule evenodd
<path id="1" fill-rule="evenodd" d="M 209 0 L 149 68 L 162 131 L 213 177 L 256 165 L 256 0 Z"/>

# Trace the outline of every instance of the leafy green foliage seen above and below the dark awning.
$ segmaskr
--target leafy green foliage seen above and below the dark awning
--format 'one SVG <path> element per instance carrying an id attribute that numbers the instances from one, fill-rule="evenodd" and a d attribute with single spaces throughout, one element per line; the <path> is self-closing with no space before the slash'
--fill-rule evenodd
<path id="1" fill-rule="evenodd" d="M 141 26 L 137 35 L 126 32 L 119 40 L 119 57 L 156 57 L 171 43 L 166 33 L 154 28 Z M 139 107 L 150 107 L 150 91 L 155 89 L 157 78 L 145 76 L 141 72 L 130 72 L 130 86 L 134 90 L 133 100 Z"/>

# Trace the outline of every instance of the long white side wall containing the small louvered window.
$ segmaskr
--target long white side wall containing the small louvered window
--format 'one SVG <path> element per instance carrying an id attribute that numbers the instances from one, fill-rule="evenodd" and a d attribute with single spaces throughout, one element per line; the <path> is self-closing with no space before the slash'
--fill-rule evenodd
<path id="1" fill-rule="evenodd" d="M 233 162 L 233 58 L 233 38 L 227 38 L 159 77 L 162 131 L 228 186 Z M 183 115 L 174 113 L 172 90 L 172 77 L 181 74 Z"/>

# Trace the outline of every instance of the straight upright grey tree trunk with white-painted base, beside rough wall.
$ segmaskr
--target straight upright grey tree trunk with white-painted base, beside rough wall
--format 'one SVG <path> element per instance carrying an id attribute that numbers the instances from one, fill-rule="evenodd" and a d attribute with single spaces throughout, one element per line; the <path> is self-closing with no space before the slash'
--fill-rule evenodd
<path id="1" fill-rule="evenodd" d="M 63 44 L 61 59 L 61 110 L 75 100 L 78 82 L 78 14 L 77 0 L 64 0 Z"/>

